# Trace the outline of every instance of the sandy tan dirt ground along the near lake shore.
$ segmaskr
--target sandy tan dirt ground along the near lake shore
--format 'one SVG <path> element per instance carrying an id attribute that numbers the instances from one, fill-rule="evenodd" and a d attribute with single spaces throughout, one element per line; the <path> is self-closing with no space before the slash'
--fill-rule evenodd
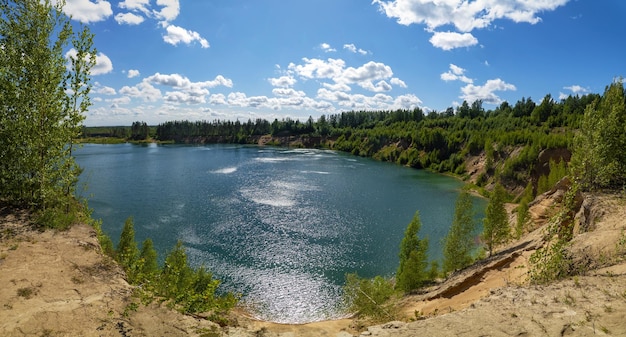
<path id="1" fill-rule="evenodd" d="M 573 243 L 589 261 L 584 275 L 527 284 L 528 258 L 542 244 L 539 228 L 404 298 L 402 322 L 358 330 L 351 319 L 281 325 L 242 313 L 238 327 L 219 328 L 165 306 L 135 305 L 92 228 L 39 232 L 25 214 L 0 209 L 0 336 L 626 336 L 626 202 L 598 204 L 602 216 Z"/>

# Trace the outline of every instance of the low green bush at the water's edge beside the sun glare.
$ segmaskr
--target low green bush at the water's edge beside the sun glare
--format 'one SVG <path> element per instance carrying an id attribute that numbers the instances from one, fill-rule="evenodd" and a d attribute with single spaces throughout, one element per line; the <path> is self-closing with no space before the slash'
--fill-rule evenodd
<path id="1" fill-rule="evenodd" d="M 347 274 L 343 299 L 349 312 L 376 323 L 391 321 L 397 315 L 393 282 L 381 276 L 368 279 Z"/>

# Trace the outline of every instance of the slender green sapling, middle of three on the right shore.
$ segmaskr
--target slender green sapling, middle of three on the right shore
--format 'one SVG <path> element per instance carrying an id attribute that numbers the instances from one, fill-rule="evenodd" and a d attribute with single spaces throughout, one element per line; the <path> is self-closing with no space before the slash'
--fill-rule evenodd
<path id="1" fill-rule="evenodd" d="M 471 195 L 467 191 L 462 191 L 456 201 L 452 226 L 444 239 L 443 272 L 446 274 L 472 263 L 474 249 L 472 235 L 476 229 L 473 209 Z"/>

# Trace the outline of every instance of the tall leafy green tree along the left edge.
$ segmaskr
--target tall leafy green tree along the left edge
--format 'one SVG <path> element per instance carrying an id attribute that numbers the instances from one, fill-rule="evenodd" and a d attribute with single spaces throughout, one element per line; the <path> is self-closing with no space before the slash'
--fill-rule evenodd
<path id="1" fill-rule="evenodd" d="M 0 0 L 0 198 L 44 220 L 60 219 L 73 201 L 73 141 L 95 65 L 93 35 L 74 32 L 63 5 Z"/>

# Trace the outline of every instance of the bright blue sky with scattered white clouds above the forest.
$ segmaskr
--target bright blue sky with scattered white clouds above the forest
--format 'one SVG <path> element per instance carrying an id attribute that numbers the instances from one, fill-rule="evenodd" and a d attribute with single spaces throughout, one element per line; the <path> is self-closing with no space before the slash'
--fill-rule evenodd
<path id="1" fill-rule="evenodd" d="M 66 0 L 87 126 L 494 109 L 626 75 L 623 0 Z M 69 55 L 69 54 L 68 54 Z"/>

